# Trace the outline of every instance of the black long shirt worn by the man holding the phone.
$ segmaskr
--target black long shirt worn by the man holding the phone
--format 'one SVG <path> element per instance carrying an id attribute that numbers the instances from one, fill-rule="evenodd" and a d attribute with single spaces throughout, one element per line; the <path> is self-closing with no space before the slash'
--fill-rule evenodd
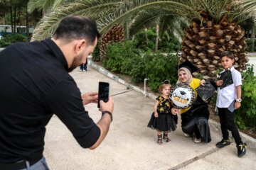
<path id="1" fill-rule="evenodd" d="M 45 127 L 53 113 L 82 147 L 91 147 L 100 137 L 53 40 L 6 47 L 0 52 L 0 162 L 42 157 Z"/>

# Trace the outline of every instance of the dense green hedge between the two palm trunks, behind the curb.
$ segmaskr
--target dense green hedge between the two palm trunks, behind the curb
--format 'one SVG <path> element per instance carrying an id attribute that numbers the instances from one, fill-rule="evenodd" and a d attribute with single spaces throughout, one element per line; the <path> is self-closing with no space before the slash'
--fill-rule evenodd
<path id="1" fill-rule="evenodd" d="M 137 50 L 132 41 L 113 43 L 107 47 L 103 66 L 112 72 L 128 74 L 132 82 L 144 82 L 149 78 L 152 91 L 157 91 L 160 84 L 169 79 L 175 84 L 177 76 L 178 58 L 176 55 L 162 55 L 158 52 L 144 52 Z"/>

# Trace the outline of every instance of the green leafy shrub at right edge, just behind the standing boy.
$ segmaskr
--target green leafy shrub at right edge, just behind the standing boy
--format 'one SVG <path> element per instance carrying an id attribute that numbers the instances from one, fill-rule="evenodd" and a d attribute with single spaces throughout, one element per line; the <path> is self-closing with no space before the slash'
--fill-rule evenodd
<path id="1" fill-rule="evenodd" d="M 242 73 L 242 103 L 235 111 L 235 123 L 239 128 L 254 128 L 256 125 L 256 77 L 253 65 L 247 64 L 247 71 Z"/>

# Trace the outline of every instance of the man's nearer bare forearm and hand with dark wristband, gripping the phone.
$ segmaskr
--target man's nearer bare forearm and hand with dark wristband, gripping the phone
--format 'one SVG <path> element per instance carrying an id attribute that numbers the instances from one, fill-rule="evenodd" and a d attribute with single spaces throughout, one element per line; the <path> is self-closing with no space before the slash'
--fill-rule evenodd
<path id="1" fill-rule="evenodd" d="M 104 101 L 100 101 L 100 111 L 109 111 L 110 113 L 113 113 L 114 110 L 114 101 L 112 100 L 112 97 L 109 97 L 109 100 L 107 103 Z M 100 145 L 100 143 L 104 140 L 104 138 L 107 135 L 107 132 L 110 129 L 110 123 L 112 121 L 112 118 L 109 114 L 105 113 L 102 115 L 102 118 L 97 123 L 97 126 L 100 128 L 100 137 L 98 138 L 97 142 L 95 142 L 90 149 L 95 149 Z"/>

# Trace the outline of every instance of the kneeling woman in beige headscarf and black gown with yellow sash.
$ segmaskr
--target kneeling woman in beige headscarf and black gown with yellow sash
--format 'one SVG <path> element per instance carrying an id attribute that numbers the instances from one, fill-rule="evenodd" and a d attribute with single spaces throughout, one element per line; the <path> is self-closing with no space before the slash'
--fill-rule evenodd
<path id="1" fill-rule="evenodd" d="M 182 64 L 181 64 L 182 65 Z M 193 90 L 202 85 L 204 81 L 195 79 L 191 75 L 191 67 L 179 66 L 178 81 L 176 84 L 186 83 L 190 85 Z M 196 93 L 196 91 L 195 91 Z M 186 137 L 193 137 L 194 142 L 200 143 L 210 142 L 210 128 L 208 125 L 209 111 L 208 105 L 196 93 L 196 101 L 190 108 L 181 109 L 181 128 Z"/>

